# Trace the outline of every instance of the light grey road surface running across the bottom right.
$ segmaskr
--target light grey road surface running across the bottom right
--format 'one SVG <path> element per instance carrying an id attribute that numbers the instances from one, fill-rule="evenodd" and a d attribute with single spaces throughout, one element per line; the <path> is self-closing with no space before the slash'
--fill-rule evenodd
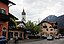
<path id="1" fill-rule="evenodd" d="M 64 39 L 55 39 L 55 40 L 52 40 L 52 41 L 40 40 L 40 41 L 25 42 L 25 43 L 20 42 L 18 44 L 64 44 Z"/>

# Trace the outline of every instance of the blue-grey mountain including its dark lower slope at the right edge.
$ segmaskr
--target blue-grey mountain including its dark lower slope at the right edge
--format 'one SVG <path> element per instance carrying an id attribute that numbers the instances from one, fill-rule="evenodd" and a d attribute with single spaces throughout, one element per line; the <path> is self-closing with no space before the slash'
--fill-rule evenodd
<path id="1" fill-rule="evenodd" d="M 64 36 L 64 15 L 61 15 L 59 17 L 55 15 L 49 15 L 43 20 L 48 22 L 57 22 L 59 33 L 61 33 Z"/>

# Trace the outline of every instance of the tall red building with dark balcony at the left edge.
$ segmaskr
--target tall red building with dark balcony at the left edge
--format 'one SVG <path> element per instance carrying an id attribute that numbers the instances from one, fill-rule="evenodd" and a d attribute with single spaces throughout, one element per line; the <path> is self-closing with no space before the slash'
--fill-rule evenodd
<path id="1" fill-rule="evenodd" d="M 8 1 L 0 0 L 0 36 L 8 39 Z"/>

